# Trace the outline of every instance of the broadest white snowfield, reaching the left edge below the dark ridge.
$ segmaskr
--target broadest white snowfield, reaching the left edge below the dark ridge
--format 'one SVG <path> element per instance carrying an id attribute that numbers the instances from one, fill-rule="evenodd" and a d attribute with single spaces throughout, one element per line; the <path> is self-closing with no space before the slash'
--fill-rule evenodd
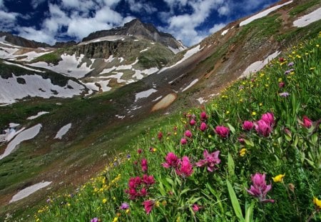
<path id="1" fill-rule="evenodd" d="M 19 84 L 18 78 L 26 81 L 26 84 Z M 68 87 L 71 86 L 71 87 Z M 23 99 L 26 96 L 39 96 L 49 99 L 51 96 L 70 98 L 80 95 L 85 87 L 75 81 L 68 80 L 66 86 L 58 86 L 51 83 L 51 79 L 44 79 L 37 74 L 15 76 L 8 79 L 2 79 L 0 76 L 0 104 L 13 104 L 17 99 Z"/>

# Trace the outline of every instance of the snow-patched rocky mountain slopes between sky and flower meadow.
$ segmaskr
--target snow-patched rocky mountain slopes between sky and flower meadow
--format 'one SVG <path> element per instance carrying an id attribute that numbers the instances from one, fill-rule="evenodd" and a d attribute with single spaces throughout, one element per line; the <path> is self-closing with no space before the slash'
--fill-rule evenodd
<path id="1" fill-rule="evenodd" d="M 31 206 L 62 186 L 83 183 L 158 118 L 170 121 L 167 113 L 204 104 L 285 49 L 318 36 L 320 15 L 320 1 L 280 1 L 177 54 L 146 34 L 121 32 L 136 26 L 153 33 L 138 21 L 59 49 L 0 37 L 0 104 L 7 105 L 0 107 L 0 153 L 13 148 L 0 157 L 0 215 L 7 206 Z M 11 141 L 25 129 L 36 129 L 36 136 Z M 51 190 L 9 205 L 17 191 L 39 181 L 52 181 Z"/>

